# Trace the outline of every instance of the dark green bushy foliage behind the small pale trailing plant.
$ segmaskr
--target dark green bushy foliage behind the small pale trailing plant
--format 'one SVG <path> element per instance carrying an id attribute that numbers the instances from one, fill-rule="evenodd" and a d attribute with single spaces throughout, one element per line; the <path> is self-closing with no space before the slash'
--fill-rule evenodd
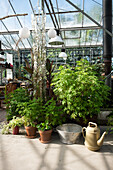
<path id="1" fill-rule="evenodd" d="M 14 92 L 5 95 L 7 120 L 11 120 L 13 116 L 19 116 L 18 105 L 30 100 L 29 93 L 26 89 L 18 88 Z"/>

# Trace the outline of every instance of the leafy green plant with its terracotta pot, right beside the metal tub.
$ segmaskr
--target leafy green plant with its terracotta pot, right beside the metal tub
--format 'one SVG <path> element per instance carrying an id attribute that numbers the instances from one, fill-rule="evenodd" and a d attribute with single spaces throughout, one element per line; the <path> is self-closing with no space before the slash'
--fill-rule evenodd
<path id="1" fill-rule="evenodd" d="M 41 143 L 49 143 L 51 141 L 53 127 L 62 124 L 65 121 L 65 116 L 62 105 L 57 106 L 53 98 L 47 101 L 42 107 L 42 121 L 37 125 L 40 134 L 39 140 Z"/>

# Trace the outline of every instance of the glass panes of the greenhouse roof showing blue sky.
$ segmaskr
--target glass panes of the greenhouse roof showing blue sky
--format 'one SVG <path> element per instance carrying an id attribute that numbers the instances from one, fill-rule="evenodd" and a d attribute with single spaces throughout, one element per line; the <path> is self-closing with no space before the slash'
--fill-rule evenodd
<path id="1" fill-rule="evenodd" d="M 102 0 L 70 0 L 70 2 L 74 6 L 66 0 L 0 0 L 0 18 L 15 14 L 28 14 L 27 16 L 8 17 L 0 21 L 2 49 L 15 49 L 19 40 L 19 30 L 24 26 L 31 30 L 31 36 L 22 40 L 19 48 L 32 48 L 31 14 L 34 11 L 38 14 L 38 3 L 41 8 L 44 4 L 46 30 L 54 27 L 51 19 L 53 16 L 55 23 L 57 20 L 58 25 L 57 23 L 56 25 L 60 28 L 66 47 L 102 46 L 102 29 L 80 11 L 83 10 L 96 22 L 102 24 Z M 48 45 L 49 38 L 46 39 L 47 47 L 51 47 Z"/>

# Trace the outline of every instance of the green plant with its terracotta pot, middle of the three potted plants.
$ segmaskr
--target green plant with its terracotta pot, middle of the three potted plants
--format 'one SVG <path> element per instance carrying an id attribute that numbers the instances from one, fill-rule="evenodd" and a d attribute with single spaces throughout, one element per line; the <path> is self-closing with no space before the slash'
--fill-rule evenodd
<path id="1" fill-rule="evenodd" d="M 36 125 L 40 122 L 41 111 L 42 111 L 42 101 L 38 99 L 30 100 L 29 102 L 23 103 L 22 111 L 20 111 L 21 116 L 24 119 L 24 126 L 26 129 L 26 137 L 35 138 L 36 137 Z M 21 110 L 21 109 L 20 109 Z"/>

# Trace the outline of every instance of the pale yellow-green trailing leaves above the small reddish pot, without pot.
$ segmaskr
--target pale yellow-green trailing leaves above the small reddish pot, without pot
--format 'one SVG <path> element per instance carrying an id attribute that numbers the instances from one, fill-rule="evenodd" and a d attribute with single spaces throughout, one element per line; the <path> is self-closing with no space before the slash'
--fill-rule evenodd
<path id="1" fill-rule="evenodd" d="M 22 126 L 24 124 L 23 118 L 13 116 L 13 119 L 9 123 L 4 124 L 2 128 L 2 134 L 8 134 L 10 128 L 13 130 L 16 126 Z"/>

